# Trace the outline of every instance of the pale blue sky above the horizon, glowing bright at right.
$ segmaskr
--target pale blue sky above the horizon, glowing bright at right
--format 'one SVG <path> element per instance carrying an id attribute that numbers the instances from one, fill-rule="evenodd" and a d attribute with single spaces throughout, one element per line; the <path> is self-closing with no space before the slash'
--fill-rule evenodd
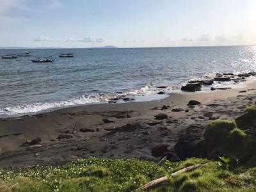
<path id="1" fill-rule="evenodd" d="M 256 44 L 256 0 L 0 0 L 0 47 Z"/>

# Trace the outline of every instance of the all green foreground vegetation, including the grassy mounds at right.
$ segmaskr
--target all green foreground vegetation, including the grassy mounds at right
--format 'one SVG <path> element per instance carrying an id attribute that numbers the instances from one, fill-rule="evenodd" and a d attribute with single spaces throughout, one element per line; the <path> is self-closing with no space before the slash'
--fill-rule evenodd
<path id="1" fill-rule="evenodd" d="M 251 119 L 256 117 L 255 110 L 246 109 L 236 122 L 219 120 L 207 125 L 202 143 L 209 159 L 215 158 L 212 161 L 190 158 L 157 165 L 137 159 L 93 157 L 65 166 L 2 169 L 0 191 L 134 191 L 151 180 L 198 163 L 204 165 L 169 177 L 168 182 L 151 191 L 256 191 L 255 121 Z"/>

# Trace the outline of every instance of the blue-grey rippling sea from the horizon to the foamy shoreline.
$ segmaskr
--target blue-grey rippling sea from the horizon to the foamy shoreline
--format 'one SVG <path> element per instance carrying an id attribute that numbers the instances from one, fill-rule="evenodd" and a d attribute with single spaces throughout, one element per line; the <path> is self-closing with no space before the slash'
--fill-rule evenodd
<path id="1" fill-rule="evenodd" d="M 30 51 L 30 57 L 0 59 L 0 116 L 108 102 L 118 95 L 147 97 L 217 72 L 256 71 L 256 46 L 3 49 L 0 55 Z M 60 52 L 74 52 L 74 58 L 59 58 Z M 53 54 L 53 63 L 31 61 Z"/>

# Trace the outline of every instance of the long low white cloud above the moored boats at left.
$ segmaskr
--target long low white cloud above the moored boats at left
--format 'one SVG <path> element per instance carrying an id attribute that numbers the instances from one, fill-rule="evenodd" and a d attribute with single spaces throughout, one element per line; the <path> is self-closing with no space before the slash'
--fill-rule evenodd
<path id="1" fill-rule="evenodd" d="M 62 39 L 54 39 L 50 38 L 48 36 L 38 36 L 34 40 L 35 42 L 105 42 L 106 40 L 102 37 L 92 37 L 92 36 L 86 36 L 83 38 L 62 38 Z"/>

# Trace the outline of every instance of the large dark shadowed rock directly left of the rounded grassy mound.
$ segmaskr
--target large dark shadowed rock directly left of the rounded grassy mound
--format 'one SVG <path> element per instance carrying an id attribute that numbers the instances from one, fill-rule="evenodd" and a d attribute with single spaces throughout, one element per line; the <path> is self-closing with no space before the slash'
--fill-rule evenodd
<path id="1" fill-rule="evenodd" d="M 205 148 L 202 144 L 204 125 L 189 125 L 177 141 L 175 154 L 184 160 L 189 157 L 205 157 Z"/>

